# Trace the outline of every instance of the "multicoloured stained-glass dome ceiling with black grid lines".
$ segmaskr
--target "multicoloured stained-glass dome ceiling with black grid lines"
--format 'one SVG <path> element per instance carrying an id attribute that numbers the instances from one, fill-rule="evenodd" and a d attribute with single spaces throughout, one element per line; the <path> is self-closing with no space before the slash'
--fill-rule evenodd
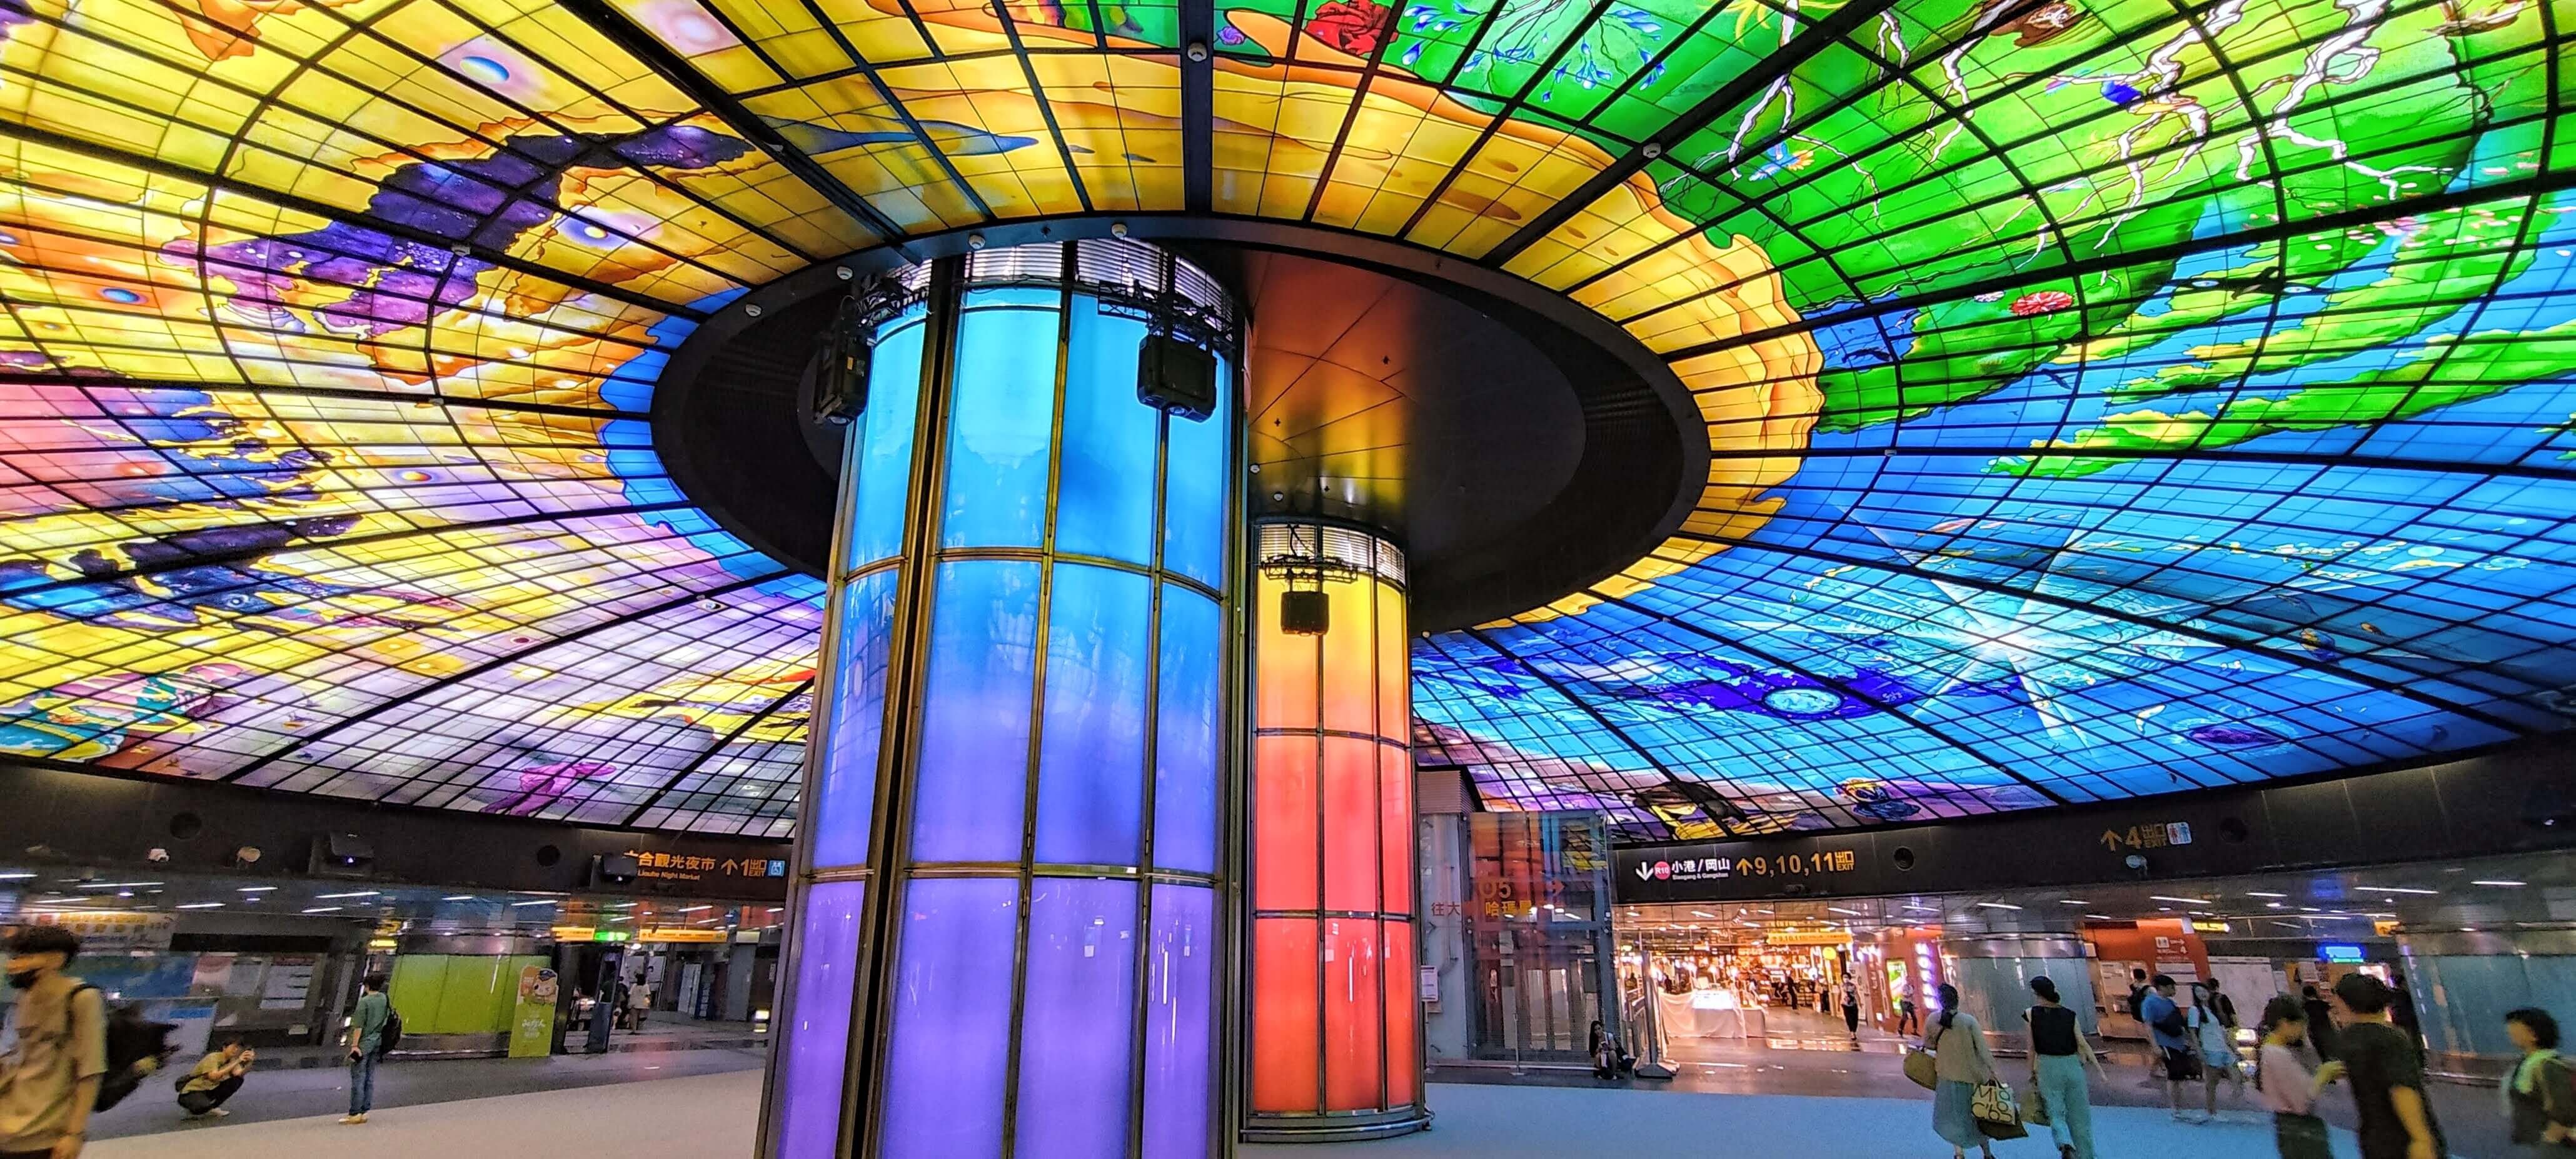
<path id="1" fill-rule="evenodd" d="M 814 260 L 1082 211 L 1445 250 L 1695 391 L 1674 541 L 1419 646 L 1492 806 L 1847 827 L 2558 731 L 2561 10 L 23 0 L 0 752 L 786 832 L 819 592 L 670 484 L 654 376 Z"/>

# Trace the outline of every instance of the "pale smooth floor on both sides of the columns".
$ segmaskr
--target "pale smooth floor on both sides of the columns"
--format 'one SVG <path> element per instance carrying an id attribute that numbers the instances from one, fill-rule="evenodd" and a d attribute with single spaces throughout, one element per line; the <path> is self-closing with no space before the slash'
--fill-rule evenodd
<path id="1" fill-rule="evenodd" d="M 106 1138 L 90 1159 L 240 1159 L 358 1154 L 371 1159 L 618 1159 L 747 1156 L 760 1105 L 755 1071 L 502 1095 L 379 1110 L 366 1126 L 332 1118 L 201 1123 Z M 124 1107 L 118 1107 L 124 1110 Z M 1340 1146 L 1249 1146 L 1257 1159 L 1574 1159 L 1574 1156 L 1798 1156 L 1940 1159 L 1929 1105 L 1883 1097 L 1680 1095 L 1584 1087 L 1435 1084 L 1430 1133 Z M 2161 1110 L 2102 1107 L 2102 1159 L 2262 1159 L 2272 1131 L 2251 1113 L 2182 1126 Z M 2053 1159 L 2043 1138 L 1996 1144 L 1996 1156 Z M 2339 1156 L 2352 1156 L 2349 1136 Z M 801 1156 L 799 1156 L 801 1159 Z M 2476 1156 L 2491 1159 L 2491 1156 Z"/>

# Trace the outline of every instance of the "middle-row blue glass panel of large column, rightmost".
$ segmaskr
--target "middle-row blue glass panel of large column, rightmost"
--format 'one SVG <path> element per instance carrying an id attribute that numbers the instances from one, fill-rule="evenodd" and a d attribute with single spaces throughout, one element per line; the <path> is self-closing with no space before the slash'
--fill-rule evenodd
<path id="1" fill-rule="evenodd" d="M 1154 865 L 1216 873 L 1216 724 L 1226 613 L 1162 585 L 1162 677 L 1154 688 Z"/>

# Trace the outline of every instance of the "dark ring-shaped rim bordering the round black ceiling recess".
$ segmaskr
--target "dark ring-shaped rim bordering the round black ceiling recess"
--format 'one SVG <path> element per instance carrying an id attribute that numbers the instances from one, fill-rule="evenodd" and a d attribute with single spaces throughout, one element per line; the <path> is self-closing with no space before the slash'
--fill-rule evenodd
<path id="1" fill-rule="evenodd" d="M 1602 353 L 1618 358 L 1643 381 L 1654 397 L 1664 404 L 1664 415 L 1680 438 L 1680 484 L 1674 495 L 1667 497 L 1664 513 L 1654 520 L 1651 533 L 1641 536 L 1633 551 L 1615 554 L 1615 561 L 1602 567 L 1597 574 L 1577 574 L 1569 580 L 1564 592 L 1582 592 L 1613 574 L 1625 572 L 1633 561 L 1643 559 L 1656 543 L 1672 538 L 1682 520 L 1698 507 L 1703 489 L 1708 487 L 1708 440 L 1690 438 L 1692 433 L 1708 430 L 1708 420 L 1700 415 L 1698 399 L 1682 386 L 1682 379 L 1672 373 L 1672 366 L 1646 350 L 1636 335 L 1620 330 L 1615 322 L 1595 314 L 1589 306 L 1566 299 L 1546 286 L 1538 286 L 1517 273 L 1492 270 L 1455 255 L 1427 250 L 1412 242 L 1396 242 L 1388 237 L 1360 234 L 1350 229 L 1293 224 L 1293 221 L 1265 221 L 1244 216 L 1206 216 L 1206 214 L 1084 214 L 1084 216 L 1046 216 L 1025 221 L 997 221 L 971 229 L 951 229 L 940 234 L 922 234 L 912 240 L 912 250 L 927 258 L 948 258 L 969 252 L 966 237 L 976 234 L 989 247 L 1002 250 L 1012 245 L 1038 245 L 1038 242 L 1066 242 L 1077 237 L 1110 237 L 1110 224 L 1126 224 L 1128 237 L 1144 242 L 1226 242 L 1252 250 L 1280 250 L 1306 258 L 1324 258 L 1350 265 L 1363 265 L 1394 278 L 1425 283 L 1425 286 L 1458 286 L 1471 294 L 1507 301 L 1512 306 L 1528 309 L 1569 335 L 1592 343 Z M 672 428 L 677 415 L 685 415 L 685 397 L 706 371 L 708 358 L 724 350 L 742 330 L 757 319 L 750 314 L 770 314 L 788 309 L 817 294 L 832 294 L 848 281 L 837 273 L 850 270 L 853 278 L 866 278 L 873 273 L 886 273 L 907 265 L 907 260 L 886 247 L 860 250 L 848 258 L 809 265 L 768 286 L 757 286 L 750 294 L 734 299 L 714 317 L 708 317 L 698 330 L 693 330 L 677 350 L 670 355 L 670 366 L 662 371 L 662 381 L 654 386 L 652 402 L 652 430 L 654 451 L 670 469 L 672 482 L 680 484 L 683 495 L 708 495 L 701 487 L 701 471 L 688 458 L 688 451 L 677 438 L 665 438 L 662 433 Z M 762 551 L 773 551 L 765 536 L 747 533 L 744 520 L 734 518 L 719 505 L 701 507 L 726 531 L 742 536 L 747 543 Z M 775 554 L 775 559 L 791 559 Z M 1551 595 L 1553 600 L 1553 595 Z M 1548 600 L 1538 600 L 1538 608 Z M 1515 608 L 1528 610 L 1528 608 Z M 1510 616 L 1510 613 L 1499 613 Z"/>

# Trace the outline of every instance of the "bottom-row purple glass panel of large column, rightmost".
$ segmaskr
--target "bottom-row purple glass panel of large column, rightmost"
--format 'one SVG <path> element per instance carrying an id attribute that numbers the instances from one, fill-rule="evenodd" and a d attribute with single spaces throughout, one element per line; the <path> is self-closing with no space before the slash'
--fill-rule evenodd
<path id="1" fill-rule="evenodd" d="M 1144 1159 L 1208 1159 L 1216 891 L 1154 886 L 1144 1007 Z"/>

